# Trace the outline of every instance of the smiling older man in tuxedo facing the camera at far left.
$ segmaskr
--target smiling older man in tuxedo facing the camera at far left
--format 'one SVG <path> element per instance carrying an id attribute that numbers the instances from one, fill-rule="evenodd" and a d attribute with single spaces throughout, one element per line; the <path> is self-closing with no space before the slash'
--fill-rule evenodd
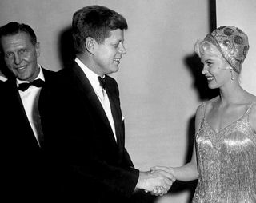
<path id="1" fill-rule="evenodd" d="M 44 82 L 54 72 L 38 64 L 40 45 L 26 24 L 9 22 L 0 27 L 0 51 L 8 73 L 0 93 L 2 194 L 9 201 L 34 200 L 40 198 L 38 191 L 48 177 L 38 101 Z"/>

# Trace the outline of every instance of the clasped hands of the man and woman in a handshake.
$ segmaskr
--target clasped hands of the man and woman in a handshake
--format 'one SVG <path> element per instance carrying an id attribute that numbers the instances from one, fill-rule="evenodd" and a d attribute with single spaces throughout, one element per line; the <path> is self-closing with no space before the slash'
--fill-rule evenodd
<path id="1" fill-rule="evenodd" d="M 147 172 L 140 172 L 137 189 L 144 189 L 146 193 L 162 196 L 166 194 L 173 185 L 176 178 L 174 177 L 174 169 L 171 167 L 155 166 Z"/>

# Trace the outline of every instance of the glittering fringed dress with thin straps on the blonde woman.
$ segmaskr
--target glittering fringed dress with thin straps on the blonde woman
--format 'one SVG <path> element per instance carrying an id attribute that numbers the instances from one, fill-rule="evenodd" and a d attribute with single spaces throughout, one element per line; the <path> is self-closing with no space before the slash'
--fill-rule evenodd
<path id="1" fill-rule="evenodd" d="M 251 106 L 219 132 L 203 116 L 196 135 L 198 185 L 193 203 L 256 202 L 256 133 L 249 123 Z"/>

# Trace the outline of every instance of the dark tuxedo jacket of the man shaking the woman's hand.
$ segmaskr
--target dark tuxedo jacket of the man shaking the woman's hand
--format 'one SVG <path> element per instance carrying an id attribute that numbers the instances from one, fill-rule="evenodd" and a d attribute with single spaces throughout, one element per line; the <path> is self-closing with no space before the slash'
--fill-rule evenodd
<path id="1" fill-rule="evenodd" d="M 39 103 L 45 149 L 57 169 L 59 197 L 72 202 L 125 202 L 138 170 L 125 148 L 118 85 L 106 76 L 117 142 L 86 74 L 75 63 L 60 70 Z M 57 192 L 57 189 L 56 189 Z"/>

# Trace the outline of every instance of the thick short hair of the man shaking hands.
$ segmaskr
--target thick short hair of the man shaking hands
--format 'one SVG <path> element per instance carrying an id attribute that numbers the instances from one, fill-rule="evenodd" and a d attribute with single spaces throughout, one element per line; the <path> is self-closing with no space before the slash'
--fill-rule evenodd
<path id="1" fill-rule="evenodd" d="M 86 6 L 73 15 L 72 30 L 74 50 L 84 51 L 86 38 L 91 37 L 99 44 L 110 37 L 111 30 L 126 30 L 126 19 L 105 6 Z"/>

